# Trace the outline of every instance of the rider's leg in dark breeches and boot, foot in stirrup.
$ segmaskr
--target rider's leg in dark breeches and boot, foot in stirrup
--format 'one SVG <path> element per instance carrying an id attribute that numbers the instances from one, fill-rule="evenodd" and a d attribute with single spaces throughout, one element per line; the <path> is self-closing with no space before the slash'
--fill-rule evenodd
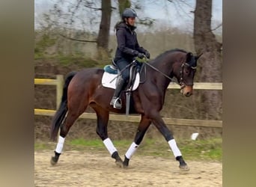
<path id="1" fill-rule="evenodd" d="M 125 67 L 129 64 L 124 58 L 121 58 L 117 61 L 117 66 L 119 70 L 124 70 Z M 129 79 L 129 67 L 126 68 L 122 73 L 121 77 L 118 79 L 117 88 L 115 88 L 114 95 L 111 99 L 110 105 L 113 105 L 114 108 L 122 108 L 121 101 L 119 99 L 121 91 L 124 89 L 124 85 Z"/>

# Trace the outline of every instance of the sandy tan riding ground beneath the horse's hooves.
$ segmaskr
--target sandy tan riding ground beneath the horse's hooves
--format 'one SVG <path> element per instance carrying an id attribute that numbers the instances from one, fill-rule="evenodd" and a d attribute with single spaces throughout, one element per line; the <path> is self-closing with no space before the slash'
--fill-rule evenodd
<path id="1" fill-rule="evenodd" d="M 65 151 L 50 165 L 52 151 L 34 153 L 35 186 L 222 186 L 222 163 L 189 161 L 181 172 L 174 159 L 133 156 L 128 169 L 117 168 L 107 153 Z"/>

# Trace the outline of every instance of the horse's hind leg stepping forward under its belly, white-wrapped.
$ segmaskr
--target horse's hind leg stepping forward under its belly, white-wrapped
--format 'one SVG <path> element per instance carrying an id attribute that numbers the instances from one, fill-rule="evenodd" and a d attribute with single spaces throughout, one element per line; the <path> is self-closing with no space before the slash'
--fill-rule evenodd
<path id="1" fill-rule="evenodd" d="M 118 155 L 118 150 L 108 136 L 109 111 L 106 111 L 96 104 L 91 105 L 91 107 L 94 108 L 94 111 L 97 114 L 97 135 L 100 136 L 103 144 L 106 146 L 107 150 L 109 150 L 110 155 L 115 159 L 116 165 L 123 167 L 123 161 Z"/>

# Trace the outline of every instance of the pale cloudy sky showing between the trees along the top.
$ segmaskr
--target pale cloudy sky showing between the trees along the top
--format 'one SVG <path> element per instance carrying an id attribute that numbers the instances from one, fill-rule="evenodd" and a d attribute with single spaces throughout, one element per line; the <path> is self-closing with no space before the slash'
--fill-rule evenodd
<path id="1" fill-rule="evenodd" d="M 38 22 L 40 22 L 42 13 L 49 11 L 49 8 L 57 0 L 35 0 L 34 1 L 34 26 L 37 28 Z M 73 1 L 73 0 L 69 0 Z M 173 0 L 169 2 L 167 0 L 144 0 L 141 3 L 142 10 L 137 10 L 139 18 L 150 17 L 156 19 L 153 25 L 153 29 L 157 29 L 162 25 L 166 27 L 177 27 L 183 31 L 192 31 L 193 28 L 193 16 L 194 14 L 190 11 L 195 10 L 195 0 L 183 0 L 186 3 L 178 3 L 179 0 Z M 98 4 L 100 7 L 100 4 Z M 112 0 L 112 6 L 117 7 L 116 1 Z M 114 10 L 112 13 L 112 25 L 119 19 L 118 10 Z M 212 28 L 216 25 L 222 23 L 222 0 L 213 0 L 213 10 L 212 10 Z M 91 30 L 98 29 L 98 25 L 95 28 L 91 26 Z M 143 26 L 141 31 L 143 31 Z M 112 30 L 112 29 L 111 29 Z M 112 33 L 113 31 L 111 31 Z M 218 28 L 216 32 L 222 33 L 222 27 Z"/>

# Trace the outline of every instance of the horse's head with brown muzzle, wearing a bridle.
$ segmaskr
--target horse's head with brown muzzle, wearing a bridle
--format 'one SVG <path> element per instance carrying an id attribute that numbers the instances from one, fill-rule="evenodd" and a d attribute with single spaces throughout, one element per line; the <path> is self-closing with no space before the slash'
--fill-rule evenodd
<path id="1" fill-rule="evenodd" d="M 174 66 L 174 76 L 180 84 L 181 93 L 184 96 L 191 96 L 193 93 L 194 76 L 198 58 L 202 54 L 195 56 L 192 52 L 186 53 L 186 57 Z"/>

